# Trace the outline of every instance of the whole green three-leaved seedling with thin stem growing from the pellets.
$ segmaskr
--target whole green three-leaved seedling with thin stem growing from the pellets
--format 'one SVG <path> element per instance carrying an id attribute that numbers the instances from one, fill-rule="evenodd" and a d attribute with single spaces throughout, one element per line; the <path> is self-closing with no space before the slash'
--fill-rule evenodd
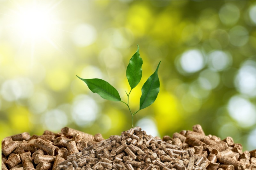
<path id="1" fill-rule="evenodd" d="M 132 128 L 133 128 L 133 116 L 136 113 L 138 113 L 141 109 L 144 109 L 150 106 L 152 103 L 154 103 L 154 101 L 156 100 L 157 94 L 159 93 L 159 86 L 160 86 L 157 71 L 161 61 L 157 65 L 156 71 L 148 78 L 148 80 L 144 83 L 144 85 L 141 88 L 140 109 L 132 113 L 129 106 L 129 95 L 132 92 L 132 89 L 136 87 L 140 82 L 140 79 L 142 77 L 142 69 L 141 69 L 142 63 L 143 62 L 142 62 L 142 58 L 140 57 L 139 45 L 138 45 L 137 51 L 130 59 L 130 62 L 126 70 L 126 77 L 131 87 L 131 90 L 129 93 L 125 91 L 127 95 L 127 103 L 121 100 L 120 95 L 117 92 L 116 88 L 110 85 L 105 80 L 102 80 L 99 78 L 84 79 L 78 76 L 77 77 L 83 80 L 93 93 L 98 93 L 103 99 L 107 99 L 111 101 L 121 101 L 124 104 L 126 104 L 132 116 Z"/>

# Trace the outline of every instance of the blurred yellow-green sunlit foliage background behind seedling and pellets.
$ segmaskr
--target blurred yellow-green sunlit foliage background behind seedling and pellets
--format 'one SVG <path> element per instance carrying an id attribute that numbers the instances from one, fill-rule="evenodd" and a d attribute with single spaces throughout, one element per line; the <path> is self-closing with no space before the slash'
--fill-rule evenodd
<path id="1" fill-rule="evenodd" d="M 163 137 L 201 124 L 256 148 L 255 1 L 0 1 L 0 138 L 71 127 L 105 138 L 131 128 L 121 102 L 76 78 L 102 78 L 126 101 L 140 46 L 141 87 L 158 70 L 156 101 L 135 126 Z"/>

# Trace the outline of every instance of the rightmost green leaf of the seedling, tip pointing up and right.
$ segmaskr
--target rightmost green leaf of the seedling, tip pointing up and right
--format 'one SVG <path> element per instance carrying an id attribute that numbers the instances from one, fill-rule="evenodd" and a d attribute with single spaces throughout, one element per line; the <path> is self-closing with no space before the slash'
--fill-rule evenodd
<path id="1" fill-rule="evenodd" d="M 150 106 L 156 100 L 160 87 L 160 82 L 157 75 L 160 63 L 161 62 L 159 62 L 156 71 L 148 78 L 141 88 L 140 109 Z"/>

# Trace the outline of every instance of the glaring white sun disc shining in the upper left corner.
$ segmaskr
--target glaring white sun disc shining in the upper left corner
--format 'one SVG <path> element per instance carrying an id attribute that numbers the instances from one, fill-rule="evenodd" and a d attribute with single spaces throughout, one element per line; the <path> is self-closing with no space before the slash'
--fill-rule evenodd
<path id="1" fill-rule="evenodd" d="M 33 4 L 20 8 L 15 24 L 22 37 L 38 40 L 49 37 L 55 23 L 55 16 L 49 11 L 49 7 Z"/>

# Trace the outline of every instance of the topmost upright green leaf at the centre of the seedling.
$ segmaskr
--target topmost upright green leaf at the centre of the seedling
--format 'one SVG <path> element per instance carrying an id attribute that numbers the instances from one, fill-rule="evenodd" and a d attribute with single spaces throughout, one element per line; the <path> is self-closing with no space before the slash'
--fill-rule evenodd
<path id="1" fill-rule="evenodd" d="M 139 45 L 138 45 L 138 49 L 130 59 L 129 64 L 127 66 L 127 70 L 126 70 L 126 77 L 128 79 L 131 89 L 136 87 L 136 85 L 138 85 L 140 82 L 140 79 L 142 77 L 142 69 L 141 69 L 142 63 L 143 62 L 142 62 L 142 58 L 140 57 Z"/>

